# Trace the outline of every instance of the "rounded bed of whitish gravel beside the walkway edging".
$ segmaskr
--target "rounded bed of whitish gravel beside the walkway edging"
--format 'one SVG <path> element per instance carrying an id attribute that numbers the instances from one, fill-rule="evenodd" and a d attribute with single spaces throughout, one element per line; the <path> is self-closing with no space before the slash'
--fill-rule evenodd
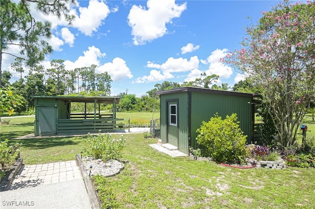
<path id="1" fill-rule="evenodd" d="M 124 169 L 124 164 L 114 159 L 103 162 L 102 159 L 82 157 L 82 162 L 88 174 L 90 174 L 90 166 L 92 165 L 91 176 L 98 174 L 111 177 L 119 174 L 120 171 Z"/>

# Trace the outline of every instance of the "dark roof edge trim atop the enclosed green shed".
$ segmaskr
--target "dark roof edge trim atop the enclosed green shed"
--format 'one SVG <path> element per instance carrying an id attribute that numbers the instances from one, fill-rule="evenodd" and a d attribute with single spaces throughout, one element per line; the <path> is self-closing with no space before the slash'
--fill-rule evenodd
<path id="1" fill-rule="evenodd" d="M 238 96 L 238 97 L 262 98 L 262 95 L 260 94 L 242 93 L 242 92 L 236 92 L 236 91 L 224 91 L 224 90 L 190 87 L 190 86 L 164 90 L 164 91 L 157 91 L 155 92 L 155 94 L 162 95 L 162 94 L 171 94 L 171 93 L 180 93 L 180 92 L 197 92 L 197 93 L 207 93 L 207 94 L 230 95 L 230 96 Z"/>

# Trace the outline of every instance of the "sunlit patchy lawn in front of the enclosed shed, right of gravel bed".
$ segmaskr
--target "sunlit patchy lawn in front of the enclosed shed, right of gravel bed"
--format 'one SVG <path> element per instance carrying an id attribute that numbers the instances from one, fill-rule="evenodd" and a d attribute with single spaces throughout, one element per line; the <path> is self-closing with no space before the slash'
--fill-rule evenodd
<path id="1" fill-rule="evenodd" d="M 314 168 L 229 168 L 169 157 L 149 147 L 156 139 L 141 134 L 124 138 L 125 169 L 102 183 L 112 188 L 111 198 L 119 208 L 312 208 L 315 204 Z"/>

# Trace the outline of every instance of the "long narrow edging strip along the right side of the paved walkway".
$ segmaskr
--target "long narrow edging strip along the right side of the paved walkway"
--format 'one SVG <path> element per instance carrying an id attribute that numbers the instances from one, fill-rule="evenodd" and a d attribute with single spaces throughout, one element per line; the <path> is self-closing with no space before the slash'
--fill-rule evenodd
<path id="1" fill-rule="evenodd" d="M 96 195 L 95 187 L 90 179 L 90 176 L 87 174 L 84 168 L 84 164 L 79 154 L 75 155 L 75 161 L 80 168 L 80 172 L 84 180 L 85 188 L 87 189 L 88 192 L 92 209 L 100 209 L 99 199 Z"/>

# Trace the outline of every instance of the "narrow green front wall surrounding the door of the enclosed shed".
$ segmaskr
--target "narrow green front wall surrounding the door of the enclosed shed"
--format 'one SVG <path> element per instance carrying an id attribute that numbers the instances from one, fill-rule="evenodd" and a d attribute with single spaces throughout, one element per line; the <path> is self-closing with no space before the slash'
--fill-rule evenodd
<path id="1" fill-rule="evenodd" d="M 178 122 L 179 122 L 179 147 L 178 149 L 188 154 L 188 94 L 174 93 L 160 95 L 160 118 L 161 118 L 161 140 L 166 143 L 167 138 L 167 101 L 178 100 Z"/>

